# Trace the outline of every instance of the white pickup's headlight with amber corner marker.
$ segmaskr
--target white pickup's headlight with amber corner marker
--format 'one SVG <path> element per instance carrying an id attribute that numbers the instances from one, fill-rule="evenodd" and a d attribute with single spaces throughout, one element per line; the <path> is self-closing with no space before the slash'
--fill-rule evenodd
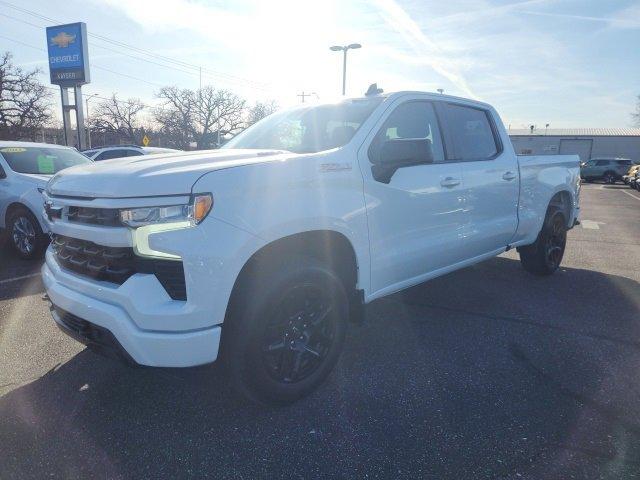
<path id="1" fill-rule="evenodd" d="M 213 197 L 210 193 L 206 193 L 194 195 L 186 205 L 120 210 L 120 221 L 133 228 L 165 223 L 180 224 L 180 227 L 193 227 L 206 218 L 212 206 Z"/>

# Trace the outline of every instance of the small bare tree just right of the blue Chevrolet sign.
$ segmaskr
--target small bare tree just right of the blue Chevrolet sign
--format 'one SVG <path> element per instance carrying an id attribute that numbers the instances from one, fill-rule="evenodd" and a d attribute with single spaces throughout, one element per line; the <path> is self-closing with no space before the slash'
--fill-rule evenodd
<path id="1" fill-rule="evenodd" d="M 139 99 L 122 101 L 114 93 L 110 99 L 103 100 L 93 109 L 89 125 L 93 131 L 111 135 L 118 141 L 140 144 L 144 129 L 139 114 L 144 109 L 145 105 Z"/>

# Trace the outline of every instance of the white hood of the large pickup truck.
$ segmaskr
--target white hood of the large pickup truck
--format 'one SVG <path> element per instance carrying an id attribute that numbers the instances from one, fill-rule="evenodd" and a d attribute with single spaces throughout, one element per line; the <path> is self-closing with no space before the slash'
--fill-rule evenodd
<path id="1" fill-rule="evenodd" d="M 90 198 L 184 195 L 205 173 L 284 161 L 291 155 L 282 150 L 207 150 L 104 160 L 62 170 L 47 192 Z"/>

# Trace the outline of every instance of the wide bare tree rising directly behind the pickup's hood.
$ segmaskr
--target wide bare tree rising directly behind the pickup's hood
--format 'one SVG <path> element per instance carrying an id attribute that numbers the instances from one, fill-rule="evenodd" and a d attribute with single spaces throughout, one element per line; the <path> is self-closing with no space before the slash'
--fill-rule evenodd
<path id="1" fill-rule="evenodd" d="M 178 148 L 192 142 L 198 149 L 211 148 L 244 128 L 246 102 L 228 90 L 164 87 L 157 97 L 163 102 L 154 112 L 155 121 Z"/>

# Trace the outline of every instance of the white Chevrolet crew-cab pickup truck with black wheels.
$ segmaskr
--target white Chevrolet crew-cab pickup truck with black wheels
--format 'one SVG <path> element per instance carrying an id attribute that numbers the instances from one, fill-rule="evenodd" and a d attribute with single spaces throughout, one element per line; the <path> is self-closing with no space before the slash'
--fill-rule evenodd
<path id="1" fill-rule="evenodd" d="M 224 359 L 253 399 L 313 390 L 372 300 L 517 248 L 551 274 L 578 222 L 577 156 L 517 157 L 495 110 L 419 92 L 267 117 L 217 151 L 49 182 L 55 322 L 136 364 Z"/>

